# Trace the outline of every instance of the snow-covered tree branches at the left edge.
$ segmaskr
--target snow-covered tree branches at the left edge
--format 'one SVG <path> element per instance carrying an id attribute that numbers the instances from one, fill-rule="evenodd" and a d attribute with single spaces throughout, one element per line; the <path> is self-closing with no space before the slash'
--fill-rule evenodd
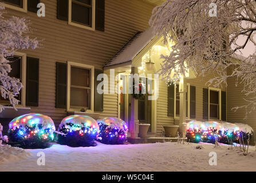
<path id="1" fill-rule="evenodd" d="M 8 58 L 13 57 L 16 50 L 36 49 L 38 41 L 36 38 L 31 39 L 28 35 L 30 32 L 29 21 L 26 18 L 3 17 L 5 7 L 0 5 L 0 92 L 1 96 L 9 99 L 10 104 L 18 104 L 15 98 L 21 90 L 22 83 L 19 79 L 10 77 L 10 61 Z M 0 105 L 0 112 L 3 106 Z"/>

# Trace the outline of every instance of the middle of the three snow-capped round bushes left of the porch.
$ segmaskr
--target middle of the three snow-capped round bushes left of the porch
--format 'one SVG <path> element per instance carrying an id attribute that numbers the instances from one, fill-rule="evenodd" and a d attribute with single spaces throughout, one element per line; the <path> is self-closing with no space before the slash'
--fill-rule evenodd
<path id="1" fill-rule="evenodd" d="M 58 128 L 57 141 L 70 147 L 96 146 L 99 134 L 97 121 L 89 116 L 73 115 L 64 118 Z"/>

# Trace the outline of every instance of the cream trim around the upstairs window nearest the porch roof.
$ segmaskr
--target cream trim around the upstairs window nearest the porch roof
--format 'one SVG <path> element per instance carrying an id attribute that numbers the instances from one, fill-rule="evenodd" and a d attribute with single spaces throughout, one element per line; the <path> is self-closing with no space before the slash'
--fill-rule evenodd
<path id="1" fill-rule="evenodd" d="M 95 30 L 95 16 L 96 16 L 96 0 L 92 0 L 92 27 L 82 25 L 80 23 L 72 22 L 72 0 L 69 0 L 69 16 L 68 16 L 68 25 L 80 27 L 87 30 Z"/>

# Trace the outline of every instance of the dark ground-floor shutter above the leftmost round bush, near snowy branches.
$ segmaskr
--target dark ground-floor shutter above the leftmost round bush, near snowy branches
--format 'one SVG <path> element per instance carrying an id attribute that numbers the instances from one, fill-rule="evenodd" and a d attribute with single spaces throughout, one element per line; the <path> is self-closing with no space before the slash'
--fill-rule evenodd
<path id="1" fill-rule="evenodd" d="M 39 59 L 27 57 L 26 105 L 38 106 Z"/>

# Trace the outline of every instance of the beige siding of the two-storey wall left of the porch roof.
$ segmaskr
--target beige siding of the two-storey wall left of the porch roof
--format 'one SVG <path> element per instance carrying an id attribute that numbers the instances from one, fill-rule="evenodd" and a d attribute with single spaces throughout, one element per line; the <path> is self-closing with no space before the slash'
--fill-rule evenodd
<path id="1" fill-rule="evenodd" d="M 138 0 L 105 1 L 105 32 L 101 32 L 57 19 L 57 0 L 41 2 L 46 6 L 46 17 L 9 9 L 6 16 L 29 18 L 31 37 L 42 40 L 38 49 L 23 51 L 29 57 L 40 58 L 39 106 L 32 107 L 31 112 L 46 114 L 58 122 L 66 116 L 66 110 L 55 108 L 56 62 L 73 61 L 102 68 L 137 31 L 148 28 L 153 5 Z M 101 117 L 117 116 L 117 104 L 117 95 L 105 95 Z"/>

